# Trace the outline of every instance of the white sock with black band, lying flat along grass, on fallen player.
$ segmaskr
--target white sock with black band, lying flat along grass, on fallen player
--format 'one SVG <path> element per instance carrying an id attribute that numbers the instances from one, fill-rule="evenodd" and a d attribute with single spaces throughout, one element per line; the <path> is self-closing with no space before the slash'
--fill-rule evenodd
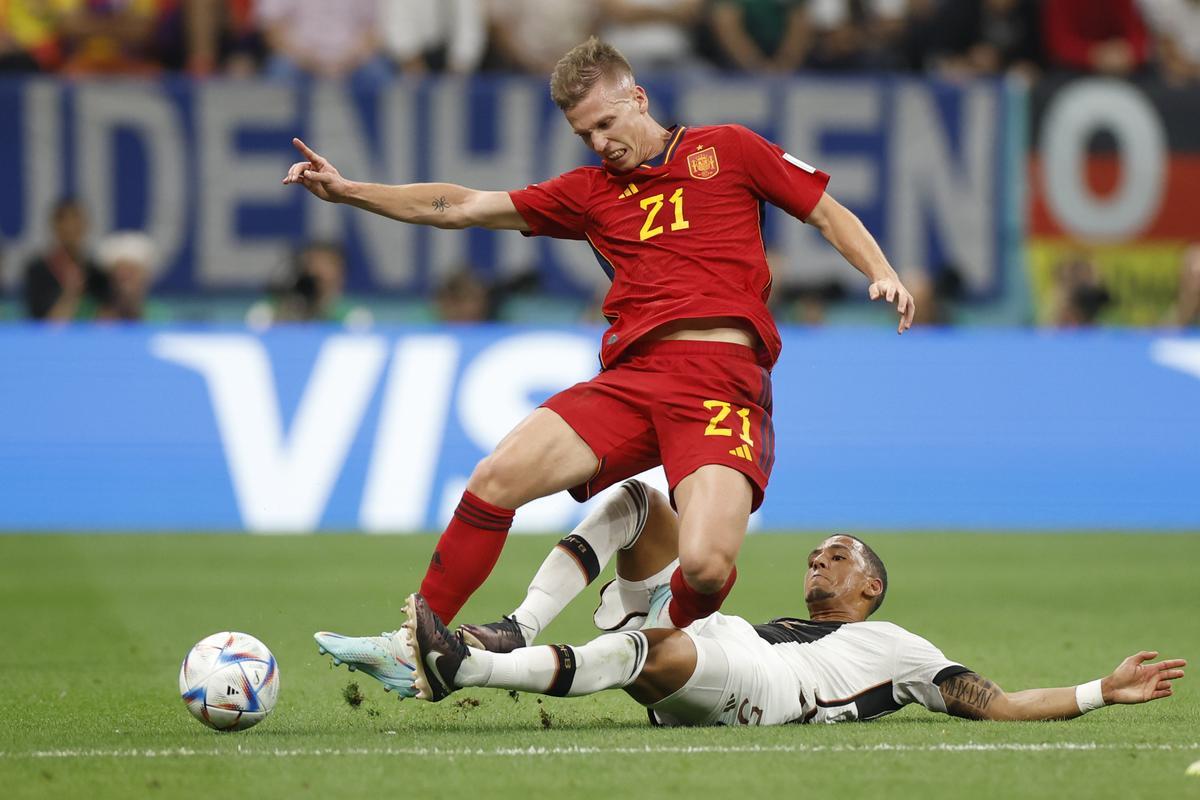
<path id="1" fill-rule="evenodd" d="M 470 648 L 455 675 L 458 686 L 487 686 L 554 697 L 577 697 L 628 686 L 646 666 L 641 631 L 608 633 L 581 648 L 551 644 L 512 652 Z"/>

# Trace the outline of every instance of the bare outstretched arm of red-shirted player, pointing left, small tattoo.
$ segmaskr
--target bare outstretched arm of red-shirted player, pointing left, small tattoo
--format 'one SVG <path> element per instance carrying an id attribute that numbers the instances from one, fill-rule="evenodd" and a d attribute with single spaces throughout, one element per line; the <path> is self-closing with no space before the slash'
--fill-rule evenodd
<path id="1" fill-rule="evenodd" d="M 508 192 L 481 192 L 455 184 L 360 184 L 342 178 L 334 164 L 300 139 L 292 144 L 305 161 L 292 164 L 283 182 L 300 184 L 322 200 L 434 228 L 529 229 Z"/>

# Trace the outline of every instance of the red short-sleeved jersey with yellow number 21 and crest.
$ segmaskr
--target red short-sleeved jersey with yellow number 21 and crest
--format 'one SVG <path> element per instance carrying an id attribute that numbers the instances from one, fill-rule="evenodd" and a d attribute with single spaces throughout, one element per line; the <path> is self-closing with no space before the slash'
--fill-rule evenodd
<path id="1" fill-rule="evenodd" d="M 586 239 L 612 278 L 605 367 L 660 325 L 709 317 L 746 320 L 774 366 L 762 203 L 805 219 L 829 176 L 740 125 L 679 126 L 655 162 L 580 167 L 509 194 L 532 235 Z"/>

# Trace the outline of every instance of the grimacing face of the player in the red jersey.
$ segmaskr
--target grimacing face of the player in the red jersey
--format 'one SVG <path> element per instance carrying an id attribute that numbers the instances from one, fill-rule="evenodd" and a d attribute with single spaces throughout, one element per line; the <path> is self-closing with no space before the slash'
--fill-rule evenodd
<path id="1" fill-rule="evenodd" d="M 638 136 L 646 109 L 646 91 L 632 80 L 601 80 L 566 112 L 566 121 L 608 167 L 629 172 L 653 155 L 643 152 Z"/>

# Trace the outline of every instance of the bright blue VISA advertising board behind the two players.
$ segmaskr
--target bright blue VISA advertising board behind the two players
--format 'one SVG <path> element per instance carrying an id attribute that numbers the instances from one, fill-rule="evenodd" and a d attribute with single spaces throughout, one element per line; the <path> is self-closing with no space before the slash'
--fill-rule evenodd
<path id="1" fill-rule="evenodd" d="M 475 462 L 594 373 L 598 336 L 0 327 L 0 529 L 439 529 Z M 757 529 L 1200 529 L 1200 338 L 784 341 Z M 582 513 L 547 498 L 516 529 Z"/>

